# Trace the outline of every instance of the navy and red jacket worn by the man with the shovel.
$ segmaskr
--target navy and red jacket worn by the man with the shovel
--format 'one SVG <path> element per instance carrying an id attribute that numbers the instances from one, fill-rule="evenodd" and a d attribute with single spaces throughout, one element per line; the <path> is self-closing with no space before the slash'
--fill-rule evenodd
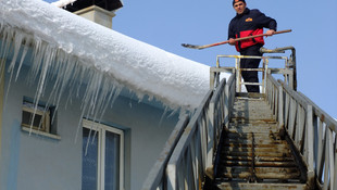
<path id="1" fill-rule="evenodd" d="M 247 36 L 263 34 L 263 28 L 274 29 L 276 31 L 277 23 L 274 18 L 265 16 L 259 10 L 246 8 L 242 14 L 236 14 L 230 21 L 228 27 L 229 38 L 242 38 Z M 260 43 L 264 45 L 263 37 L 251 38 L 236 42 L 236 50 L 241 51 L 245 48 Z"/>

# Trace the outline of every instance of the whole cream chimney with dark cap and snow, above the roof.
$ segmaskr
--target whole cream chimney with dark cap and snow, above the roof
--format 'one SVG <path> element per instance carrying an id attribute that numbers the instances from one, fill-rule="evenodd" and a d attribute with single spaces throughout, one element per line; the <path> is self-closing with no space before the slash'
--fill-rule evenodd
<path id="1" fill-rule="evenodd" d="M 67 0 L 65 4 L 64 1 L 54 4 L 108 28 L 112 28 L 115 11 L 123 7 L 121 0 Z"/>

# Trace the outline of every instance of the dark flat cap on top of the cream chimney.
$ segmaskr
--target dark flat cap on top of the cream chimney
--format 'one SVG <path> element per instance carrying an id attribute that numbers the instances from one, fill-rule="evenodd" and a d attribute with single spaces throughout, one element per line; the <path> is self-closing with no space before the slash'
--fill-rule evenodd
<path id="1" fill-rule="evenodd" d="M 70 12 L 76 12 L 91 5 L 97 5 L 108 11 L 114 11 L 122 8 L 123 3 L 121 0 L 76 0 L 63 7 L 63 9 Z"/>

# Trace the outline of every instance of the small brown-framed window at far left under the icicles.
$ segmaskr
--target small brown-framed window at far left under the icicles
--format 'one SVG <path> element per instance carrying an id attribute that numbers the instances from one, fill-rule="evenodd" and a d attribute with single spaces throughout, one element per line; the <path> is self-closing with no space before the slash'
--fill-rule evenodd
<path id="1" fill-rule="evenodd" d="M 51 122 L 51 118 L 55 116 L 54 112 L 54 106 L 36 105 L 25 98 L 22 106 L 22 130 L 61 139 L 57 135 L 55 123 Z"/>

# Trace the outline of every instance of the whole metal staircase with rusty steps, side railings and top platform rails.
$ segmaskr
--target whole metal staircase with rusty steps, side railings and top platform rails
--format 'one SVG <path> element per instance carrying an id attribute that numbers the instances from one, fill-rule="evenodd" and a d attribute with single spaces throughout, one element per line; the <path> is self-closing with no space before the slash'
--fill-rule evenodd
<path id="1" fill-rule="evenodd" d="M 141 189 L 336 190 L 337 122 L 297 91 L 294 47 L 262 51 L 287 50 L 289 56 L 219 55 L 211 89 L 178 122 Z M 235 66 L 220 66 L 220 58 L 234 58 Z M 239 63 L 248 58 L 263 60 L 254 84 L 261 94 L 241 92 Z M 222 72 L 232 75 L 221 80 Z"/>

